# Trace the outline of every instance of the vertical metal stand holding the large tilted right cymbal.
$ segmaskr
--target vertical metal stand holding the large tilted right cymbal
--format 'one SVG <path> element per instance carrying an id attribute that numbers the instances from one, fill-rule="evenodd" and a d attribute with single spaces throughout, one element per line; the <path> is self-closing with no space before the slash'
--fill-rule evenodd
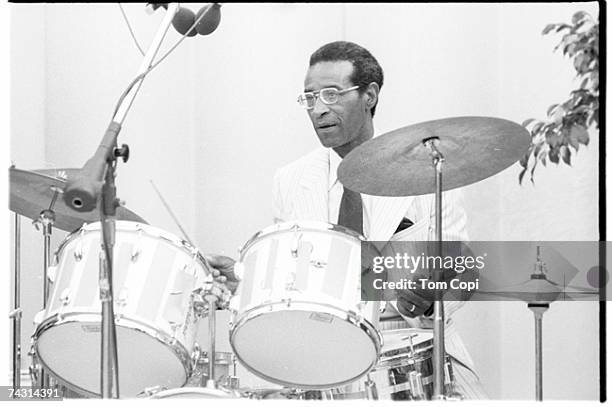
<path id="1" fill-rule="evenodd" d="M 441 255 L 442 252 L 442 163 L 444 156 L 438 150 L 437 145 L 440 139 L 437 137 L 427 138 L 423 140 L 423 144 L 431 151 L 431 161 L 435 172 L 435 229 L 436 229 L 436 255 Z M 444 280 L 443 270 L 435 268 L 433 270 L 434 282 Z M 445 399 L 444 394 L 444 303 L 442 302 L 442 290 L 436 288 L 434 290 L 434 313 L 433 313 L 433 382 L 434 393 L 433 400 Z"/>

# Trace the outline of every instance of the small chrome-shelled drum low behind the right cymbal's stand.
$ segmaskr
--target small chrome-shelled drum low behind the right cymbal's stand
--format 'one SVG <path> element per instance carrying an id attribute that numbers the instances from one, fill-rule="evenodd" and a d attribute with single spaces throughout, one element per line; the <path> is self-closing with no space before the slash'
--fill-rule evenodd
<path id="1" fill-rule="evenodd" d="M 378 365 L 368 374 L 380 400 L 431 400 L 433 396 L 433 333 L 426 329 L 383 332 L 384 346 Z M 445 394 L 453 391 L 450 357 L 444 364 Z M 334 390 L 335 399 L 365 399 L 366 384 L 353 383 Z"/>

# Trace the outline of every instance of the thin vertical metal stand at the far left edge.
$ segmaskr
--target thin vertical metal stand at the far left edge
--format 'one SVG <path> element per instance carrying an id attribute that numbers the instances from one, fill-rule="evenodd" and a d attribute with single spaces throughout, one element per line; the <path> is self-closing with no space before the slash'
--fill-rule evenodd
<path id="1" fill-rule="evenodd" d="M 9 318 L 13 320 L 13 389 L 21 388 L 21 218 L 15 213 L 15 291 L 13 310 Z"/>

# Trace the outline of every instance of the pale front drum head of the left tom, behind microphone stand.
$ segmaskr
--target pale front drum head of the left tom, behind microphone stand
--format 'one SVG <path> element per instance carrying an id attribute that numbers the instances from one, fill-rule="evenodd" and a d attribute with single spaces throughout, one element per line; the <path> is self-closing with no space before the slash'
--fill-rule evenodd
<path id="1" fill-rule="evenodd" d="M 142 389 L 180 387 L 187 381 L 179 349 L 150 333 L 116 325 L 119 394 L 135 397 Z M 42 364 L 75 390 L 100 395 L 100 323 L 64 322 L 45 329 L 36 340 Z"/>

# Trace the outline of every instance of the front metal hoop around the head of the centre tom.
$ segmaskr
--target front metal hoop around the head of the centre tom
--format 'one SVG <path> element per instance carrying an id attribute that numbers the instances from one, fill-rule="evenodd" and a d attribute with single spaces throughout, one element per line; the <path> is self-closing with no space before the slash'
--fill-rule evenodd
<path id="1" fill-rule="evenodd" d="M 246 361 L 242 359 L 242 357 L 240 356 L 240 353 L 236 350 L 236 347 L 234 346 L 234 338 L 236 336 L 238 329 L 241 328 L 248 321 L 255 319 L 259 316 L 262 316 L 262 315 L 265 315 L 265 314 L 268 314 L 270 312 L 274 312 L 277 310 L 278 311 L 286 310 L 287 309 L 286 302 L 274 302 L 274 303 L 266 303 L 266 304 L 258 305 L 242 313 L 241 317 L 235 323 L 232 324 L 232 329 L 230 330 L 229 340 L 230 340 L 230 345 L 232 347 L 232 350 L 234 351 L 234 355 L 236 356 L 236 359 L 238 359 L 238 361 L 240 361 L 242 366 L 244 366 L 248 371 L 255 374 L 256 376 L 259 376 L 267 381 L 270 381 L 271 383 L 276 383 L 276 384 L 280 384 L 283 386 L 289 386 L 289 387 L 297 386 L 300 389 L 305 389 L 305 390 L 332 389 L 335 387 L 344 386 L 368 374 L 368 372 L 370 372 L 376 366 L 380 358 L 380 349 L 382 346 L 383 339 L 378 329 L 376 329 L 376 327 L 370 321 L 366 320 L 365 318 L 361 316 L 357 316 L 357 314 L 347 312 L 341 308 L 338 308 L 332 305 L 321 304 L 321 303 L 316 303 L 316 302 L 309 302 L 309 301 L 291 301 L 292 310 L 318 312 L 316 310 L 313 310 L 313 306 L 320 308 L 322 312 L 324 313 L 332 314 L 334 316 L 344 319 L 345 321 L 357 326 L 373 340 L 376 357 L 370 363 L 370 366 L 363 373 L 360 373 L 359 375 L 351 379 L 344 380 L 344 381 L 337 382 L 337 383 L 325 384 L 325 385 L 303 385 L 300 383 L 281 381 L 277 378 L 265 375 L 259 372 L 258 370 L 256 370 L 255 368 L 253 368 L 252 366 L 250 366 L 248 363 L 246 363 Z"/>

